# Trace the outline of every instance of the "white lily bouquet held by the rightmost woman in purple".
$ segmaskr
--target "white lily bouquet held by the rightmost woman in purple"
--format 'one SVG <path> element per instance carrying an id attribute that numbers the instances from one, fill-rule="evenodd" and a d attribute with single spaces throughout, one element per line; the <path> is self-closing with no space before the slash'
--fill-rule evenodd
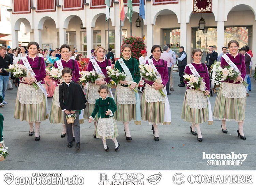
<path id="1" fill-rule="evenodd" d="M 241 76 L 241 72 L 236 72 L 235 69 L 230 65 L 223 68 L 219 66 L 216 71 L 216 79 L 220 79 L 220 81 L 233 80 L 235 83 L 237 77 L 239 76 Z M 243 83 L 245 87 L 248 86 L 247 82 L 243 80 L 241 80 L 240 82 Z"/>

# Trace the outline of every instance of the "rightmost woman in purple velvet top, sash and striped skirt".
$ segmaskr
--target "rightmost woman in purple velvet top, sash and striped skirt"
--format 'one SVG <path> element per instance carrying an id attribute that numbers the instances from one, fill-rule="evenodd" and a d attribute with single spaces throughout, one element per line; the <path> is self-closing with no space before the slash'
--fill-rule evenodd
<path id="1" fill-rule="evenodd" d="M 226 121 L 238 122 L 237 135 L 246 140 L 243 133 L 243 124 L 245 120 L 246 106 L 246 87 L 242 84 L 246 76 L 246 67 L 244 56 L 238 53 L 239 44 L 236 40 L 228 43 L 229 53 L 221 57 L 221 67 L 234 63 L 240 71 L 235 83 L 233 80 L 227 80 L 221 83 L 219 88 L 213 116 L 222 120 L 222 132 L 227 133 Z M 229 63 L 228 63 L 229 62 Z"/>

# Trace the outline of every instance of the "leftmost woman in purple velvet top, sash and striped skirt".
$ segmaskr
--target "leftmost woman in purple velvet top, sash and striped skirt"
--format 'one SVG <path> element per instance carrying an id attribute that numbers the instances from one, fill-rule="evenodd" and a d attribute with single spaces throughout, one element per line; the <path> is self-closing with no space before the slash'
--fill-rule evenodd
<path id="1" fill-rule="evenodd" d="M 47 96 L 44 78 L 46 76 L 44 58 L 36 56 L 39 45 L 37 42 L 28 44 L 29 55 L 21 58 L 20 64 L 27 64 L 31 67 L 35 76 L 21 77 L 18 88 L 14 118 L 21 121 L 26 120 L 29 123 L 29 136 L 34 134 L 35 123 L 35 140 L 40 140 L 40 123 L 47 119 Z M 26 61 L 27 60 L 27 61 Z M 40 83 L 43 87 L 36 90 L 32 83 Z M 47 95 L 47 94 L 46 94 Z"/>

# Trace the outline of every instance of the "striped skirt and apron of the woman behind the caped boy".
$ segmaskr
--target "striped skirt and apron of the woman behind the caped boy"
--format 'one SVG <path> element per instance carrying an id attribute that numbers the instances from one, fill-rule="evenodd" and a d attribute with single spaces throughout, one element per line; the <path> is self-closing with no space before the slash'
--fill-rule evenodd
<path id="1" fill-rule="evenodd" d="M 61 107 L 56 105 L 55 100 L 59 98 L 59 87 L 55 88 L 54 95 L 52 98 L 51 112 L 50 112 L 50 123 L 62 123 L 65 124 L 65 115 L 62 112 Z"/>

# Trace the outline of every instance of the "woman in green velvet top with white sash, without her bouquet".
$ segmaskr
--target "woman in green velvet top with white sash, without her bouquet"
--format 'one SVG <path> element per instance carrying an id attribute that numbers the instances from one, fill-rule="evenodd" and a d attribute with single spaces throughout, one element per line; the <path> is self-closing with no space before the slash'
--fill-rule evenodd
<path id="1" fill-rule="evenodd" d="M 117 121 L 121 121 L 124 124 L 126 140 L 132 140 L 129 122 L 134 119 L 136 125 L 141 124 L 139 94 L 133 91 L 140 81 L 139 65 L 136 59 L 131 58 L 131 51 L 132 47 L 129 44 L 124 44 L 122 46 L 123 57 L 118 59 L 114 66 L 120 72 L 126 74 L 126 79 L 120 81 L 116 88 L 115 102 L 117 104 L 117 112 L 114 115 Z"/>

